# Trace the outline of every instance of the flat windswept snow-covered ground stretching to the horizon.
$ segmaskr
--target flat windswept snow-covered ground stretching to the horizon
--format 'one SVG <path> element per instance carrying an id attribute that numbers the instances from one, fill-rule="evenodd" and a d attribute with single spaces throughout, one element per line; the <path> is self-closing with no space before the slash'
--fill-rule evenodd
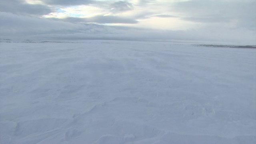
<path id="1" fill-rule="evenodd" d="M 255 144 L 256 49 L 0 43 L 1 144 Z"/>

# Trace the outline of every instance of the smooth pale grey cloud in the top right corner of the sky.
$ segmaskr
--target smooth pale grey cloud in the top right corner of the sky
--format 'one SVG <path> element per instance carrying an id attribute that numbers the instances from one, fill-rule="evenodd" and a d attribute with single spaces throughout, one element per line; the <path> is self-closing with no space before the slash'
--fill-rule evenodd
<path id="1" fill-rule="evenodd" d="M 201 23 L 234 22 L 233 28 L 243 27 L 255 30 L 256 2 L 254 0 L 194 0 L 177 2 L 170 6 L 170 11 L 178 12 L 183 20 Z"/>

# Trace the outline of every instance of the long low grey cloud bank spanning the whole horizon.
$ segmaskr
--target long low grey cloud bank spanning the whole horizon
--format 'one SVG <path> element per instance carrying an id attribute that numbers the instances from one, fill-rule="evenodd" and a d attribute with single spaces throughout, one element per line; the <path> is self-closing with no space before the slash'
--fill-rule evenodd
<path id="1" fill-rule="evenodd" d="M 217 44 L 255 44 L 255 32 L 227 30 L 221 24 L 200 30 L 150 30 L 125 26 L 71 23 L 0 12 L 1 38 L 36 40 L 161 40 L 172 42 L 210 41 Z M 80 20 L 80 19 L 77 19 Z M 18 24 L 17 24 L 18 23 Z"/>

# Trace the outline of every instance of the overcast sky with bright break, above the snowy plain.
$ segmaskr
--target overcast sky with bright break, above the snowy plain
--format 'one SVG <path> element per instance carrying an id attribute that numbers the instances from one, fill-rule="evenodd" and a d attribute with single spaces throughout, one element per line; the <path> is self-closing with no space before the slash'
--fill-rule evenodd
<path id="1" fill-rule="evenodd" d="M 0 0 L 0 37 L 256 45 L 256 0 Z"/>

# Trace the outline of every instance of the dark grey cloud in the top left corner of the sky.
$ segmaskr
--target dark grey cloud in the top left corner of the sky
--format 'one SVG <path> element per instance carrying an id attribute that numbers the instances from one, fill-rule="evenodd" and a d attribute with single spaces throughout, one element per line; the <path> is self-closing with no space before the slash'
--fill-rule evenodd
<path id="1" fill-rule="evenodd" d="M 50 7 L 42 4 L 27 4 L 22 0 L 1 0 L 1 12 L 12 12 L 13 14 L 44 15 L 54 12 Z"/>

